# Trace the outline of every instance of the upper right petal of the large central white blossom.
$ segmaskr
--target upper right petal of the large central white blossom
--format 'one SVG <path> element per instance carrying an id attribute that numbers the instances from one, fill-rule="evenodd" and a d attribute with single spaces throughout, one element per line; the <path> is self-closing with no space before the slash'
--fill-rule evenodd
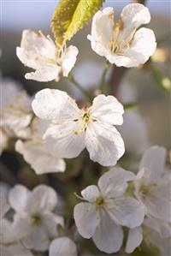
<path id="1" fill-rule="evenodd" d="M 102 122 L 121 125 L 123 122 L 123 106 L 114 96 L 98 95 L 94 98 L 91 116 Z"/>

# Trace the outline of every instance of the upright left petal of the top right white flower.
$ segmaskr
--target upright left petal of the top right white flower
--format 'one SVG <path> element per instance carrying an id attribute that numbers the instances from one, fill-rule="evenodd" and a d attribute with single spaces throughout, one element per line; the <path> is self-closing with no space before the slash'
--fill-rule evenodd
<path id="1" fill-rule="evenodd" d="M 105 56 L 108 52 L 109 41 L 112 40 L 112 31 L 114 27 L 114 9 L 107 7 L 103 11 L 97 11 L 92 19 L 91 48 L 98 55 Z"/>

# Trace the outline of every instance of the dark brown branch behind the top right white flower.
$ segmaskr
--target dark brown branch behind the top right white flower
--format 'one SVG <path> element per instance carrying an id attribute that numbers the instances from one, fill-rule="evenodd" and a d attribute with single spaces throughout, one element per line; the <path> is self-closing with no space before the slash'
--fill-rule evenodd
<path id="1" fill-rule="evenodd" d="M 133 0 L 133 3 L 145 3 L 146 0 Z M 113 67 L 111 72 L 111 76 L 109 78 L 109 91 L 112 95 L 117 95 L 118 88 L 121 84 L 121 80 L 123 79 L 124 75 L 127 73 L 128 68 L 124 67 Z"/>

